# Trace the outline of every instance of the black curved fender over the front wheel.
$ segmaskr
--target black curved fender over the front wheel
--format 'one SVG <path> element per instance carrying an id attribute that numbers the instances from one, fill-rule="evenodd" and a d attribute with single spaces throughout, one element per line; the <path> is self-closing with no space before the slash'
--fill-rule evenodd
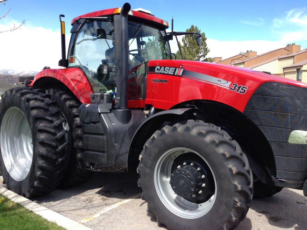
<path id="1" fill-rule="evenodd" d="M 160 126 L 168 119 L 168 117 L 182 116 L 185 113 L 194 113 L 197 109 L 170 109 L 156 113 L 146 119 L 134 133 L 130 143 L 127 168 L 128 171 L 136 169 L 138 166 L 138 157 L 143 149 L 143 145 L 150 136 L 160 128 Z M 191 115 L 190 115 L 191 116 Z"/>

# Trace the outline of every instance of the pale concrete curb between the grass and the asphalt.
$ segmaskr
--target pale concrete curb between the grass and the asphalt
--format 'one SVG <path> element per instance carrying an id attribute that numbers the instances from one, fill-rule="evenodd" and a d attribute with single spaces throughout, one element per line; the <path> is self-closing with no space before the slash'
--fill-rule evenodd
<path id="1" fill-rule="evenodd" d="M 26 209 L 33 211 L 34 213 L 42 216 L 43 218 L 55 222 L 57 225 L 66 228 L 67 230 L 92 230 L 91 228 L 87 228 L 78 222 L 71 220 L 67 217 L 62 216 L 59 213 L 51 211 L 29 199 L 22 197 L 6 188 L 0 188 L 0 194 L 6 196 L 11 201 L 21 204 Z"/>

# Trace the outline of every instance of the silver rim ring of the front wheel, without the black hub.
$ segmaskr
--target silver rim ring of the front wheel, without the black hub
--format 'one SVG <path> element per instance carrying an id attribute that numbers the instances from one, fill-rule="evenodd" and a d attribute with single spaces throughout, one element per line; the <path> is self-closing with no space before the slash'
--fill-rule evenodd
<path id="1" fill-rule="evenodd" d="M 172 189 L 170 178 L 174 160 L 181 154 L 193 153 L 199 156 L 203 163 L 207 164 L 214 179 L 214 194 L 203 203 L 194 203 L 178 196 Z M 172 148 L 166 151 L 158 159 L 154 170 L 154 186 L 162 203 L 172 213 L 186 219 L 202 217 L 210 211 L 216 200 L 216 179 L 208 162 L 196 151 L 188 148 Z"/>

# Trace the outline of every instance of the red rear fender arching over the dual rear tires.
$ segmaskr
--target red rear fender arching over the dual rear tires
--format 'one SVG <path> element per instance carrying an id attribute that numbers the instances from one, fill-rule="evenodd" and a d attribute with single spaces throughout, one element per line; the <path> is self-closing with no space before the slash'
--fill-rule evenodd
<path id="1" fill-rule="evenodd" d="M 33 82 L 29 86 L 36 86 L 38 82 L 44 80 L 44 78 L 54 78 L 62 82 L 67 86 L 73 94 L 82 103 L 90 103 L 90 94 L 93 93 L 91 84 L 89 83 L 86 75 L 79 68 L 66 68 L 66 69 L 45 69 L 39 72 Z M 48 87 L 48 81 L 45 87 Z"/>

